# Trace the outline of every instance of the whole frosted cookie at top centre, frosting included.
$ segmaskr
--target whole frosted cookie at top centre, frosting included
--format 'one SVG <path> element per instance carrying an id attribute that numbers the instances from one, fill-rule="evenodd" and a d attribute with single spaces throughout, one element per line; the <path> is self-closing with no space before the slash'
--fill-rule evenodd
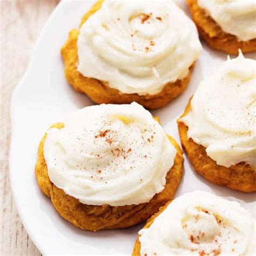
<path id="1" fill-rule="evenodd" d="M 172 1 L 98 1 L 69 33 L 65 76 L 93 102 L 156 109 L 182 93 L 201 44 Z"/>

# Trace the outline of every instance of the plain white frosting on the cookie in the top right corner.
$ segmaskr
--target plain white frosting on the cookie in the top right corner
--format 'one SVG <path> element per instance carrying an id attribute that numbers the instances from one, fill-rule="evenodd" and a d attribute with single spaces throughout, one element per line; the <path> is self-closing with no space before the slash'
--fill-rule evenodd
<path id="1" fill-rule="evenodd" d="M 197 0 L 226 33 L 240 41 L 256 38 L 255 0 Z"/>

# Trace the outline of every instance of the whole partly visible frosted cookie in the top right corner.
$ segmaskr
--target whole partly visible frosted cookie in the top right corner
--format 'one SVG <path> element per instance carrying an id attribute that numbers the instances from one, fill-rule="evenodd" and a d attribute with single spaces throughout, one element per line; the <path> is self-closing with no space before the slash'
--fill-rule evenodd
<path id="1" fill-rule="evenodd" d="M 256 51 L 254 0 L 187 0 L 193 21 L 205 42 L 231 54 Z"/>

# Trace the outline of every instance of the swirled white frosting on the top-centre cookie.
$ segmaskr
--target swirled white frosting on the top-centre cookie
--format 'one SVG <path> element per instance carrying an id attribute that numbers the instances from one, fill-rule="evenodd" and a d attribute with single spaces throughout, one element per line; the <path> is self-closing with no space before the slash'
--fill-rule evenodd
<path id="1" fill-rule="evenodd" d="M 77 70 L 122 93 L 155 95 L 188 75 L 202 47 L 172 1 L 105 0 L 80 28 Z"/>

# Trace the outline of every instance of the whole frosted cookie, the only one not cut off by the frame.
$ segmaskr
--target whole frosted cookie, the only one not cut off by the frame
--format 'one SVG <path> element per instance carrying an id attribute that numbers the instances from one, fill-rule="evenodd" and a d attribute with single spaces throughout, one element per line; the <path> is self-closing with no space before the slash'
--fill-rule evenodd
<path id="1" fill-rule="evenodd" d="M 148 219 L 173 198 L 182 172 L 178 144 L 137 103 L 71 113 L 46 132 L 36 164 L 58 213 L 92 231 Z"/>

